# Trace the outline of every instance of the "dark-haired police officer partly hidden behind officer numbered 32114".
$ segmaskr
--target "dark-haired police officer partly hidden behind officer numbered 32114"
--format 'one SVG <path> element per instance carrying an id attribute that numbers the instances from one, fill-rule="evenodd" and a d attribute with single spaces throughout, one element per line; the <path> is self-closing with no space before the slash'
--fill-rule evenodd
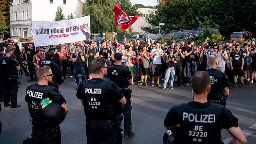
<path id="1" fill-rule="evenodd" d="M 50 83 L 51 86 L 59 89 L 60 84 L 64 82 L 64 77 L 62 76 L 62 71 L 58 64 L 56 64 L 52 59 L 54 57 L 54 51 L 48 50 L 45 52 L 46 59 L 40 60 L 39 65 L 40 67 L 49 66 L 52 69 L 53 77 L 52 82 Z"/>

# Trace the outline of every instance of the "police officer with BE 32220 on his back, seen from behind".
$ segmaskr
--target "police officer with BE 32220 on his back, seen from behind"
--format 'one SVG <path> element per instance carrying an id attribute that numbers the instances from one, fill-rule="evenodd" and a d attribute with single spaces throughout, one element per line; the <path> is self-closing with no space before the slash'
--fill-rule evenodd
<path id="1" fill-rule="evenodd" d="M 206 72 L 195 73 L 191 81 L 194 100 L 173 106 L 166 115 L 164 126 L 170 130 L 179 127 L 175 139 L 179 144 L 221 144 L 222 129 L 233 136 L 230 143 L 246 143 L 237 118 L 226 107 L 207 101 L 210 81 Z"/>

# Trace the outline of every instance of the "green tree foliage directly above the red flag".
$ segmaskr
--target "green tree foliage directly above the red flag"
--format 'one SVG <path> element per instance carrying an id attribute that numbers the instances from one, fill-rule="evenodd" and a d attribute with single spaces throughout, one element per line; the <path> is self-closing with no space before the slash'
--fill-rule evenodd
<path id="1" fill-rule="evenodd" d="M 118 3 L 120 4 L 121 9 L 126 12 L 128 16 L 135 16 L 139 11 L 137 11 L 137 6 L 132 6 L 132 3 L 130 0 L 118 0 Z"/>

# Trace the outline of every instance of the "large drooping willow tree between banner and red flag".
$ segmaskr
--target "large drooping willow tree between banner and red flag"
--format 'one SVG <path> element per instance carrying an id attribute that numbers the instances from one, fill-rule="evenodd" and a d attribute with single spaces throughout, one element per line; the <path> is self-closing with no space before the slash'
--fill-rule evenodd
<path id="1" fill-rule="evenodd" d="M 91 15 L 91 33 L 116 32 L 115 14 L 112 11 L 116 4 L 116 0 L 86 0 L 84 2 L 82 15 Z"/>

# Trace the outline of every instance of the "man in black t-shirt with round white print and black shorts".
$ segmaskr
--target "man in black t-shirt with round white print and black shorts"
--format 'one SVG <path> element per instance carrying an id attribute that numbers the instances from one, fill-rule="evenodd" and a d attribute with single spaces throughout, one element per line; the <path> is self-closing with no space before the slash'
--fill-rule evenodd
<path id="1" fill-rule="evenodd" d="M 240 51 L 239 45 L 235 46 L 235 51 L 231 52 L 229 60 L 230 60 L 230 67 L 231 67 L 231 70 L 233 70 L 233 75 L 234 75 L 234 81 L 235 81 L 234 87 L 237 87 L 237 83 L 236 83 L 237 76 L 239 76 L 240 78 L 240 86 L 246 87 L 243 83 L 244 55 Z"/>

